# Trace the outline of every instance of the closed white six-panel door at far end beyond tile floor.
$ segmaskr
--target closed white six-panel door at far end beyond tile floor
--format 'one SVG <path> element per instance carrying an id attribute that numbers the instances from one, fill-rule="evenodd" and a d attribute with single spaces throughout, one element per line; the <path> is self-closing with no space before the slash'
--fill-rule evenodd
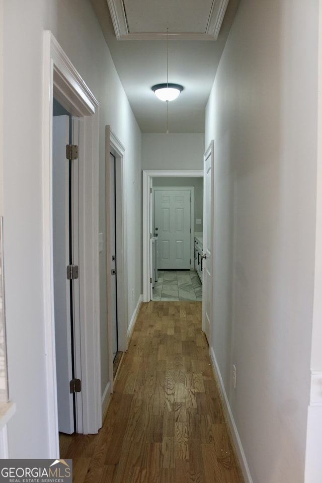
<path id="1" fill-rule="evenodd" d="M 154 233 L 158 269 L 190 269 L 190 190 L 154 190 Z"/>

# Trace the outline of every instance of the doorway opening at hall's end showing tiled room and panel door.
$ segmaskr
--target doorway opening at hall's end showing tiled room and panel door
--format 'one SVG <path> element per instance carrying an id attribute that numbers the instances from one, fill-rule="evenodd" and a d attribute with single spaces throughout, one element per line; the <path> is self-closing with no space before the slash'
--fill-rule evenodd
<path id="1" fill-rule="evenodd" d="M 152 183 L 151 299 L 200 301 L 195 236 L 202 240 L 203 178 L 154 178 Z"/>

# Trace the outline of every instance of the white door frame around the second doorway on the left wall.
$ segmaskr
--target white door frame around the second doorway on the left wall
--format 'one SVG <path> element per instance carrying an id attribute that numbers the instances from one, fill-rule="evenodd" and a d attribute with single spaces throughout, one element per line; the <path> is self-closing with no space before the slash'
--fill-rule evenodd
<path id="1" fill-rule="evenodd" d="M 126 247 L 126 203 L 125 203 L 125 148 L 111 130 L 106 126 L 105 131 L 105 156 L 106 156 L 106 188 L 110 186 L 110 152 L 115 157 L 115 205 L 116 205 L 116 290 L 117 290 L 117 327 L 118 327 L 118 350 L 127 351 L 127 247 Z M 110 226 L 110 204 L 106 196 L 106 227 Z M 108 344 L 109 344 L 109 375 L 111 392 L 113 392 L 113 348 L 112 348 L 112 311 L 111 304 L 111 246 L 109 237 L 106 243 L 106 270 L 107 270 L 107 318 L 108 318 Z M 106 399 L 106 398 L 105 398 Z"/>

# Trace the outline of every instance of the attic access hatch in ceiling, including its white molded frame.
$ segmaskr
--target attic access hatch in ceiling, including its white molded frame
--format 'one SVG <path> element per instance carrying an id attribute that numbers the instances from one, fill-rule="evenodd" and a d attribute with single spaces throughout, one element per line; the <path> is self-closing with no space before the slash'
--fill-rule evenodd
<path id="1" fill-rule="evenodd" d="M 216 40 L 229 0 L 107 0 L 118 40 Z"/>

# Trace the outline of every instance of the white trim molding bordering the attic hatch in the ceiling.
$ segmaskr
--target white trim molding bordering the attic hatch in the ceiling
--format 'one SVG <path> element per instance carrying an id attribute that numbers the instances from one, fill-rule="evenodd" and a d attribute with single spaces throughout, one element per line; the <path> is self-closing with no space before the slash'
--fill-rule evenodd
<path id="1" fill-rule="evenodd" d="M 169 39 L 176 40 L 217 40 L 229 0 L 213 0 L 209 13 L 206 31 L 169 32 Z M 128 19 L 124 10 L 123 0 L 107 0 L 114 31 L 117 40 L 163 40 L 167 39 L 166 32 L 139 32 L 131 33 L 128 28 Z"/>

